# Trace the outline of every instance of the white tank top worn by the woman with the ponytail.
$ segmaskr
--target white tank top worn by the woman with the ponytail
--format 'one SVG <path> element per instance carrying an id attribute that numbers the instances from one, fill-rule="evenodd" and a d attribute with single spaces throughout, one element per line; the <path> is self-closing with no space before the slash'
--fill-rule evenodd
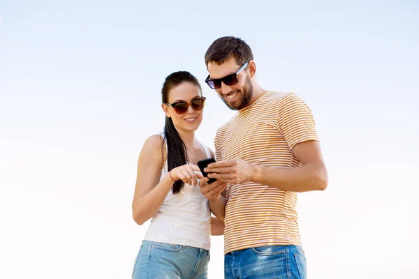
<path id="1" fill-rule="evenodd" d="M 210 149 L 202 146 L 207 158 L 210 158 Z M 166 160 L 160 180 L 167 172 Z M 170 189 L 159 211 L 153 216 L 144 239 L 210 250 L 210 235 L 211 212 L 208 199 L 200 193 L 199 184 L 191 186 L 184 183 L 184 188 L 175 195 Z"/>

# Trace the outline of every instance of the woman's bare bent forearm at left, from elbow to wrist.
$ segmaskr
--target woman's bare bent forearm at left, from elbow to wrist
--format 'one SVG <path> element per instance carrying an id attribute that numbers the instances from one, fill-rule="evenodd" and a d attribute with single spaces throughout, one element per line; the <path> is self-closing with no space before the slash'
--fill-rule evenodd
<path id="1" fill-rule="evenodd" d="M 151 191 L 133 200 L 133 219 L 135 223 L 142 225 L 156 215 L 172 185 L 173 180 L 166 175 Z"/>

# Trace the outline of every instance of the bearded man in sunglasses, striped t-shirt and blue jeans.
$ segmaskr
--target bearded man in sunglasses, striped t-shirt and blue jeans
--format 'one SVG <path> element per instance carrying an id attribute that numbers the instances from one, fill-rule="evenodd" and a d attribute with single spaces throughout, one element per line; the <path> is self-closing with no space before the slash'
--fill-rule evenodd
<path id="1" fill-rule="evenodd" d="M 225 278 L 307 278 L 296 193 L 328 185 L 311 110 L 294 93 L 259 86 L 253 54 L 240 38 L 215 40 L 205 63 L 205 82 L 237 110 L 217 131 L 217 162 L 205 169 L 217 181 L 200 183 L 226 225 Z"/>

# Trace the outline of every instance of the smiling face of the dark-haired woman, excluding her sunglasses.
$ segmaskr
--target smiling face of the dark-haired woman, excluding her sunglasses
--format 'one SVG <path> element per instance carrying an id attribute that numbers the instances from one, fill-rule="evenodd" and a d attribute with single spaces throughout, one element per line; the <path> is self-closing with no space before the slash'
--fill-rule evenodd
<path id="1" fill-rule="evenodd" d="M 168 103 L 191 103 L 191 100 L 200 97 L 201 92 L 198 86 L 191 82 L 182 82 L 170 89 Z M 162 107 L 166 116 L 172 118 L 173 125 L 177 130 L 184 130 L 186 132 L 194 131 L 198 129 L 200 123 L 203 121 L 203 110 L 193 110 L 191 105 L 182 114 L 177 113 L 171 105 L 162 104 Z"/>

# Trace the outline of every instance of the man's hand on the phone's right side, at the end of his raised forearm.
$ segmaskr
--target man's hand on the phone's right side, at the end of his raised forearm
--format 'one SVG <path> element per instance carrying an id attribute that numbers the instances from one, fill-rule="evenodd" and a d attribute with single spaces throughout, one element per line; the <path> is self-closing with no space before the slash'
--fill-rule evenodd
<path id="1" fill-rule="evenodd" d="M 204 172 L 217 181 L 239 184 L 251 181 L 253 168 L 244 160 L 234 159 L 211 163 L 204 169 Z"/>

